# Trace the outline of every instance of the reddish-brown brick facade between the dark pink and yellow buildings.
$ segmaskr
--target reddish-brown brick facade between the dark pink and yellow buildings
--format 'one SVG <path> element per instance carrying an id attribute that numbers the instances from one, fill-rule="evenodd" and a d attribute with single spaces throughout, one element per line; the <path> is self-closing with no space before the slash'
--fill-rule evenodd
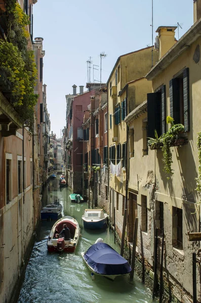
<path id="1" fill-rule="evenodd" d="M 107 161 L 107 89 L 97 88 L 83 123 L 83 195 L 91 207 L 109 212 Z"/>

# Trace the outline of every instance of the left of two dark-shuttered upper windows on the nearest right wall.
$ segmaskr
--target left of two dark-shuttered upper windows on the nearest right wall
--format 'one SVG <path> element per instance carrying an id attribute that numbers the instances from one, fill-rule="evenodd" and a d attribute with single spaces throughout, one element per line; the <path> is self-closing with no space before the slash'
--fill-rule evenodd
<path id="1" fill-rule="evenodd" d="M 166 86 L 157 92 L 147 93 L 147 137 L 155 138 L 166 132 Z"/>

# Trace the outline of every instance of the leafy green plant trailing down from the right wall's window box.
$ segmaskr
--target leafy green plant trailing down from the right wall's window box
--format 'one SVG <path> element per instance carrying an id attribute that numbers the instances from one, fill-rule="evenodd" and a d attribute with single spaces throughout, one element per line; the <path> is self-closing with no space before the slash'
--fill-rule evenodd
<path id="1" fill-rule="evenodd" d="M 174 124 L 174 119 L 169 116 L 167 117 L 167 123 L 170 123 L 171 127 L 167 133 L 163 134 L 163 170 L 166 174 L 173 174 L 171 146 L 178 139 L 179 133 L 184 132 L 184 126 L 182 124 Z"/>

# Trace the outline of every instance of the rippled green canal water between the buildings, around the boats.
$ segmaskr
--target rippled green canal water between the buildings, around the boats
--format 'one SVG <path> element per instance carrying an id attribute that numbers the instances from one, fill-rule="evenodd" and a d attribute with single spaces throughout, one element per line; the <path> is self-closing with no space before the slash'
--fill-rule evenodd
<path id="1" fill-rule="evenodd" d="M 21 288 L 18 303 L 127 303 L 152 302 L 151 292 L 134 276 L 117 277 L 110 281 L 96 276 L 91 279 L 91 272 L 85 266 L 81 252 L 87 250 L 97 238 L 111 245 L 114 235 L 109 229 L 104 231 L 87 231 L 83 228 L 82 215 L 87 203 L 71 203 L 67 188 L 59 187 L 59 177 L 51 180 L 44 189 L 42 206 L 59 198 L 63 205 L 62 215 L 74 217 L 81 226 L 81 237 L 74 254 L 48 253 L 47 238 L 54 222 L 43 221 L 37 235 L 31 257 L 26 269 L 25 280 Z"/>

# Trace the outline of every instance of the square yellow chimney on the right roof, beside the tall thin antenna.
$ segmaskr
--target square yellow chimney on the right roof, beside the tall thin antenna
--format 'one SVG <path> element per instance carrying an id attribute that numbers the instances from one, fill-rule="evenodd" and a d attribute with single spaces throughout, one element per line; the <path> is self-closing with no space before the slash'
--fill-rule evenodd
<path id="1" fill-rule="evenodd" d="M 176 28 L 177 26 L 159 26 L 156 29 L 156 33 L 158 33 L 158 40 L 159 40 L 159 60 L 176 43 L 175 41 Z"/>

